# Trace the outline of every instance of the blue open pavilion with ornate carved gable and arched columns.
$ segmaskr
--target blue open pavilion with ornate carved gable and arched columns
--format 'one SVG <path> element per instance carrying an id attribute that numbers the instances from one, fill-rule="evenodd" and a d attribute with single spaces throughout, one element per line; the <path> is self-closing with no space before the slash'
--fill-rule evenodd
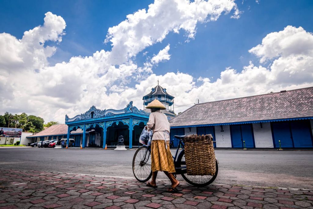
<path id="1" fill-rule="evenodd" d="M 92 106 L 87 112 L 73 118 L 65 115 L 67 139 L 72 131 L 82 130 L 82 137 L 75 138 L 75 145 L 104 148 L 106 144 L 109 147 L 115 146 L 118 137 L 122 135 L 125 145 L 132 148 L 139 145 L 138 138 L 148 119 L 149 113 L 138 110 L 132 101 L 122 110 L 100 110 Z"/>

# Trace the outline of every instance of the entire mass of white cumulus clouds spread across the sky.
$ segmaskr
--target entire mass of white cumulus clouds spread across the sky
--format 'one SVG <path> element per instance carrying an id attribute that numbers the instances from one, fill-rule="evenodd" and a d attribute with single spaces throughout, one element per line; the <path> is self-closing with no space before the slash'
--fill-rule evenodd
<path id="1" fill-rule="evenodd" d="M 183 30 L 187 39 L 195 38 L 197 23 L 215 21 L 232 10 L 233 18 L 239 17 L 233 0 L 157 0 L 147 11 L 138 10 L 109 29 L 106 42 L 112 44 L 111 51 L 72 57 L 55 66 L 49 66 L 47 58 L 56 48 L 46 42 L 61 42 L 66 23 L 48 12 L 44 24 L 26 31 L 22 39 L 0 34 L 0 109 L 64 122 L 65 114 L 72 117 L 91 105 L 122 109 L 133 100 L 143 108 L 142 96 L 150 92 L 157 79 L 175 96 L 176 106 L 198 99 L 213 101 L 313 84 L 313 35 L 293 26 L 269 33 L 249 50 L 259 57 L 261 65 L 250 62 L 238 71 L 226 68 L 215 81 L 181 72 L 153 74 L 158 63 L 170 59 L 169 44 L 143 67 L 137 66 L 134 56 L 162 42 L 168 33 Z M 262 66 L 266 61 L 269 67 Z"/>

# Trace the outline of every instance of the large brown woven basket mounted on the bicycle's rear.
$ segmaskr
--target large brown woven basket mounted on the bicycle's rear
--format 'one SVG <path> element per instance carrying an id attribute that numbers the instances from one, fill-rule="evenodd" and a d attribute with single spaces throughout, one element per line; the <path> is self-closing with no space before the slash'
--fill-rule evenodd
<path id="1" fill-rule="evenodd" d="M 212 135 L 187 135 L 185 161 L 188 175 L 211 175 L 216 171 Z"/>

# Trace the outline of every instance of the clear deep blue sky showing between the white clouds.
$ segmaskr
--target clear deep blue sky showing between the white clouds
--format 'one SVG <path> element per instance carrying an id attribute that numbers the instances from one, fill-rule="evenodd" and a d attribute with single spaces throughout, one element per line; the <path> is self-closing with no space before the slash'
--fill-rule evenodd
<path id="1" fill-rule="evenodd" d="M 10 33 L 22 38 L 23 32 L 42 24 L 44 13 L 60 15 L 66 22 L 66 35 L 58 44 L 58 51 L 50 59 L 52 64 L 68 61 L 72 56 L 90 56 L 95 51 L 110 50 L 104 44 L 109 27 L 125 20 L 127 14 L 147 8 L 153 1 L 1 1 L 0 33 Z M 216 22 L 200 23 L 194 40 L 186 41 L 184 32 L 170 33 L 162 43 L 144 51 L 157 54 L 171 44 L 171 60 L 159 64 L 157 72 L 189 73 L 217 79 L 222 70 L 231 66 L 241 70 L 249 60 L 258 60 L 248 50 L 262 38 L 287 25 L 302 26 L 313 31 L 313 1 L 236 1 L 243 12 L 239 19 L 222 15 Z M 138 64 L 145 56 L 138 54 Z M 195 70 L 197 69 L 197 70 Z M 156 73 L 157 73 L 156 72 Z"/>

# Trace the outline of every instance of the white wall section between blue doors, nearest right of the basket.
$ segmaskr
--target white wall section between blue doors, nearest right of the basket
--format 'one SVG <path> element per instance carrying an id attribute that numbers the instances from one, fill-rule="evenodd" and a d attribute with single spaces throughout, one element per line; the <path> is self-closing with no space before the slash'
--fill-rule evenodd
<path id="1" fill-rule="evenodd" d="M 221 131 L 221 126 L 217 125 L 214 126 L 215 128 L 215 139 L 216 141 L 216 147 L 232 147 L 232 141 L 230 137 L 230 126 L 229 125 L 223 125 L 223 130 Z"/>

